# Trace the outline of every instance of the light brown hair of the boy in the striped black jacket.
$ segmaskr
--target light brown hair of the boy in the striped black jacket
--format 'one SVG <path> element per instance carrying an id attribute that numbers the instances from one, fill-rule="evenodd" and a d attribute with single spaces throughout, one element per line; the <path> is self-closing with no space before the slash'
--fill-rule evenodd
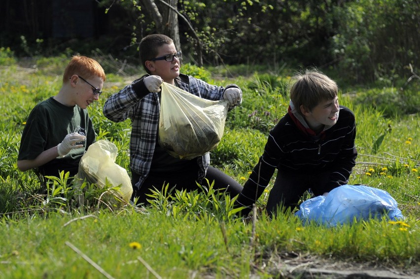
<path id="1" fill-rule="evenodd" d="M 290 89 L 290 99 L 296 111 L 302 114 L 303 105 L 309 111 L 323 100 L 331 100 L 337 96 L 338 86 L 335 81 L 317 70 L 306 70 L 298 73 L 292 81 L 296 82 Z"/>

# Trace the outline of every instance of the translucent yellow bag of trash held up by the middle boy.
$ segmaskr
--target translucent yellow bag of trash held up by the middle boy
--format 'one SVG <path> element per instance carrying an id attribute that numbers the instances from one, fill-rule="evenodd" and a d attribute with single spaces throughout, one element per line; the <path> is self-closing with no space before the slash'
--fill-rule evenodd
<path id="1" fill-rule="evenodd" d="M 228 108 L 228 100 L 203 99 L 164 82 L 159 145 L 181 159 L 205 155 L 223 136 Z"/>

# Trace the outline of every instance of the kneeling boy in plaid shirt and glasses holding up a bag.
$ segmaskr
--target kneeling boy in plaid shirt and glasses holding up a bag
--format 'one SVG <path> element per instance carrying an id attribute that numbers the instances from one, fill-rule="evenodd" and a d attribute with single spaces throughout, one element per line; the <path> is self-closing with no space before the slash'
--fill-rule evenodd
<path id="1" fill-rule="evenodd" d="M 152 34 L 140 41 L 140 58 L 147 74 L 111 95 L 105 102 L 104 115 L 114 122 L 132 121 L 130 167 L 133 196 L 147 204 L 147 194 L 154 188 L 195 190 L 197 183 L 227 188 L 238 195 L 242 186 L 220 170 L 210 166 L 210 155 L 187 160 L 169 155 L 158 143 L 158 122 L 162 82 L 175 85 L 191 94 L 209 100 L 228 99 L 230 108 L 242 102 L 242 91 L 234 84 L 210 85 L 200 79 L 179 73 L 181 53 L 168 36 Z"/>

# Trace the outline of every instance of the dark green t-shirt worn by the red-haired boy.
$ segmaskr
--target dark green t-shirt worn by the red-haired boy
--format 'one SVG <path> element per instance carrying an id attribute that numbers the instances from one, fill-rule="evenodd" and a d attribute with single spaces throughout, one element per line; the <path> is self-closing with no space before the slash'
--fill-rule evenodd
<path id="1" fill-rule="evenodd" d="M 85 148 L 72 149 L 64 157 L 38 168 L 41 175 L 58 176 L 61 171 L 70 171 L 70 176 L 78 171 L 80 158 L 95 142 L 96 133 L 86 109 L 75 105 L 68 107 L 50 97 L 38 103 L 31 111 L 22 133 L 18 160 L 35 159 L 43 151 L 61 143 L 70 133 L 86 136 L 82 143 Z"/>

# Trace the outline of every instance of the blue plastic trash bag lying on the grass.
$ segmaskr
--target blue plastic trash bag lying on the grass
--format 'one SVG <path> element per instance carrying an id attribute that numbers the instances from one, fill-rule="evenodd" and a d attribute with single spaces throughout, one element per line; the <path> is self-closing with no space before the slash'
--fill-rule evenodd
<path id="1" fill-rule="evenodd" d="M 365 185 L 343 185 L 331 190 L 327 196 L 308 199 L 295 215 L 305 222 L 314 221 L 329 227 L 351 224 L 354 219 L 403 218 L 397 202 L 387 191 Z"/>

